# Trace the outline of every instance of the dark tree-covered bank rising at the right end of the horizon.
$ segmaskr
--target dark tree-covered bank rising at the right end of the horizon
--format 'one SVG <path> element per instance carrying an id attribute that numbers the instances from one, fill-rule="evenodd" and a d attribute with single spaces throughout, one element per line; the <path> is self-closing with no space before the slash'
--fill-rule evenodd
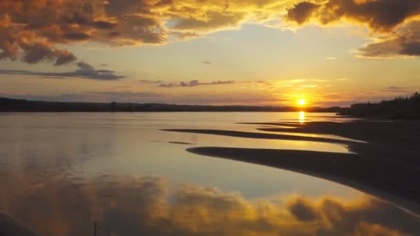
<path id="1" fill-rule="evenodd" d="M 379 103 L 353 104 L 343 109 L 341 115 L 355 117 L 376 117 L 388 119 L 420 119 L 420 93 L 410 97 L 397 97 Z"/>

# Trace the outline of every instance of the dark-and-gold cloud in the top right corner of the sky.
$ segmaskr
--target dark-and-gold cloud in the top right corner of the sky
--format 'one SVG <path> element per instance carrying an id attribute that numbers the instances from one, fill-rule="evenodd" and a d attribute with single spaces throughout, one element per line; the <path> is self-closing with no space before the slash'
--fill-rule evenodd
<path id="1" fill-rule="evenodd" d="M 417 0 L 328 0 L 303 1 L 287 10 L 287 21 L 298 25 L 312 21 L 329 25 L 350 21 L 368 26 L 374 38 L 357 50 L 361 57 L 385 58 L 420 55 L 420 1 Z"/>

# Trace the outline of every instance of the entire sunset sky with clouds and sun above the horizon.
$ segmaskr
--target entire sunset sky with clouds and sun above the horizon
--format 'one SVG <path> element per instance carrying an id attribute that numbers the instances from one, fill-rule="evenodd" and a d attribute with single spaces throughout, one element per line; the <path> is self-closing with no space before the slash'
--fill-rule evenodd
<path id="1" fill-rule="evenodd" d="M 0 0 L 0 97 L 348 106 L 419 56 L 418 0 Z"/>

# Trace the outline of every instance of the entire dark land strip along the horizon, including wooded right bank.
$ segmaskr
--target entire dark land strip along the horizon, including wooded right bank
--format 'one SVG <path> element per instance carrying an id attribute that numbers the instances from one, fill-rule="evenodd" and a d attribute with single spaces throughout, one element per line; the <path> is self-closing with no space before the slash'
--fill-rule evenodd
<path id="1" fill-rule="evenodd" d="M 334 112 L 347 117 L 420 119 L 420 93 L 379 103 L 353 104 L 348 108 L 292 106 L 199 106 L 177 104 L 93 103 L 30 101 L 0 97 L 0 112 Z"/>

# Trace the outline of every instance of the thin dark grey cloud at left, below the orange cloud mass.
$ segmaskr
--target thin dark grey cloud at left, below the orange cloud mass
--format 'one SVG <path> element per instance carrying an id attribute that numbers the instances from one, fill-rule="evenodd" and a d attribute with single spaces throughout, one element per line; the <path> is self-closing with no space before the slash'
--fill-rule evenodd
<path id="1" fill-rule="evenodd" d="M 51 79 L 63 78 L 84 78 L 84 79 L 97 79 L 102 81 L 112 81 L 123 79 L 125 76 L 115 75 L 113 70 L 95 70 L 93 66 L 88 63 L 79 61 L 77 63 L 78 69 L 73 72 L 36 72 L 28 70 L 0 70 L 3 75 L 32 75 Z"/>

